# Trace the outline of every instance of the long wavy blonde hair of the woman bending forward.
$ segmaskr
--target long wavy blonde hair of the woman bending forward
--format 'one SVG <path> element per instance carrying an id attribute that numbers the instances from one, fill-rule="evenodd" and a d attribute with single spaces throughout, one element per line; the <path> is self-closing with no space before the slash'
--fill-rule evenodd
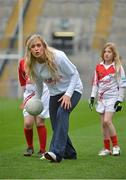
<path id="1" fill-rule="evenodd" d="M 34 65 L 36 64 L 36 58 L 31 53 L 31 46 L 33 42 L 39 39 L 43 46 L 43 55 L 39 58 L 40 66 L 42 63 L 46 64 L 51 75 L 55 80 L 59 79 L 57 65 L 54 62 L 54 53 L 53 48 L 49 47 L 48 44 L 42 39 L 42 37 L 39 34 L 34 34 L 30 36 L 30 38 L 27 40 L 26 43 L 26 49 L 25 49 L 25 69 L 27 74 L 32 78 L 35 79 L 36 74 L 34 71 Z"/>

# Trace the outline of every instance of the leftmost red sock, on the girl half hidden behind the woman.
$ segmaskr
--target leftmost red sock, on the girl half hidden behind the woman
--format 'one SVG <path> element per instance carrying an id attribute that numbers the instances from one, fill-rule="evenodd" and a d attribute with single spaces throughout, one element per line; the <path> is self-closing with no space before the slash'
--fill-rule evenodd
<path id="1" fill-rule="evenodd" d="M 33 129 L 24 128 L 26 142 L 29 148 L 33 148 Z"/>

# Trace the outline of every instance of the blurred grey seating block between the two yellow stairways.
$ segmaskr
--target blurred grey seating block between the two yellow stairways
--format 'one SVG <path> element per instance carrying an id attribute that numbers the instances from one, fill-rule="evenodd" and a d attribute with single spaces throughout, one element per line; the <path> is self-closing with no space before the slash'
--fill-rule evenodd
<path id="1" fill-rule="evenodd" d="M 75 49 L 80 39 L 83 46 L 88 48 L 92 44 L 99 5 L 99 0 L 46 0 L 38 20 L 38 32 L 50 42 L 52 31 L 59 30 L 62 20 L 67 19 L 71 26 L 66 31 L 72 29 L 77 34 Z"/>

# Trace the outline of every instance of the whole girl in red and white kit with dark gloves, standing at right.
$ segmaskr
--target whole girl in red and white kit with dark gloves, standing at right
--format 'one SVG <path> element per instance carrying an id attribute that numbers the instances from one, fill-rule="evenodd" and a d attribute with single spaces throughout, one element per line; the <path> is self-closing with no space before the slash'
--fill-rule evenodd
<path id="1" fill-rule="evenodd" d="M 96 111 L 100 113 L 104 149 L 99 156 L 120 155 L 116 129 L 112 123 L 114 112 L 120 111 L 126 87 L 125 72 L 114 43 L 107 43 L 101 52 L 101 63 L 96 66 L 93 78 L 90 107 L 97 95 Z M 112 152 L 110 150 L 112 142 Z"/>

